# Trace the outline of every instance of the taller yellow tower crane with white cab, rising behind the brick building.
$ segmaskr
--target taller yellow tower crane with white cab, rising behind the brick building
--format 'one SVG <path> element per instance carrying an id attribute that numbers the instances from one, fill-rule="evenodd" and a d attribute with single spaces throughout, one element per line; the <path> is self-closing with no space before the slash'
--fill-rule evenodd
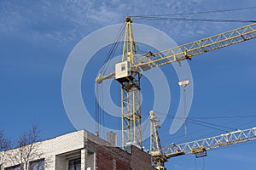
<path id="1" fill-rule="evenodd" d="M 115 71 L 103 75 L 99 73 L 96 82 L 115 78 L 121 84 L 121 116 L 122 116 L 122 146 L 134 143 L 142 146 L 142 112 L 140 108 L 140 80 L 143 71 L 148 71 L 160 65 L 181 62 L 193 56 L 214 49 L 224 48 L 238 42 L 244 42 L 256 37 L 256 23 L 242 26 L 231 31 L 222 32 L 212 37 L 206 37 L 195 42 L 189 42 L 175 48 L 158 53 L 137 54 L 137 46 L 132 33 L 132 19 L 125 18 L 125 42 L 122 62 L 115 65 Z"/>

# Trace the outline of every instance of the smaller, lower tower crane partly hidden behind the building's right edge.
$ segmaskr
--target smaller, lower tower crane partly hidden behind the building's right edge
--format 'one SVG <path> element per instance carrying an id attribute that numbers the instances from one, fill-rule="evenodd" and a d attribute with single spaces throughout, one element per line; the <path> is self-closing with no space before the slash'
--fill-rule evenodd
<path id="1" fill-rule="evenodd" d="M 160 137 L 158 135 L 157 118 L 154 111 L 149 112 L 150 117 L 150 153 L 153 166 L 158 170 L 165 170 L 165 162 L 174 156 L 195 154 L 196 157 L 207 156 L 207 150 L 217 149 L 230 144 L 239 144 L 256 139 L 256 127 L 236 130 L 218 136 L 199 139 L 183 144 L 169 144 L 161 148 Z M 155 141 L 158 141 L 157 143 Z"/>

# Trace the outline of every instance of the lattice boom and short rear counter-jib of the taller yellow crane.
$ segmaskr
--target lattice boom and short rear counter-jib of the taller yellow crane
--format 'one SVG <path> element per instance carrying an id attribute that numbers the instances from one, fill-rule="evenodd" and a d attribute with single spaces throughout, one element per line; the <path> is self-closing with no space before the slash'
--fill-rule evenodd
<path id="1" fill-rule="evenodd" d="M 207 53 L 214 49 L 224 48 L 239 42 L 244 42 L 256 37 L 256 23 L 242 26 L 231 31 L 222 32 L 212 37 L 202 38 L 195 42 L 189 42 L 175 48 L 166 49 L 158 53 L 137 54 L 135 55 L 137 64 L 135 68 L 140 71 L 148 71 L 151 68 L 160 65 L 166 65 L 172 62 L 179 62 L 184 59 L 191 59 L 195 55 Z M 115 73 L 108 75 L 99 74 L 96 82 L 102 82 L 104 79 L 114 78 Z"/>

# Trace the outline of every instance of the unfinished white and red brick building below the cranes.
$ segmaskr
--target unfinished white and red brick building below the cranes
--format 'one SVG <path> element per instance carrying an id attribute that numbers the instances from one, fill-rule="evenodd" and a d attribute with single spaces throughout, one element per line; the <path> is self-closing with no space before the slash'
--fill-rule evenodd
<path id="1" fill-rule="evenodd" d="M 44 140 L 33 145 L 33 155 L 26 165 L 20 165 L 21 148 L 1 153 L 4 161 L 1 170 L 131 170 L 154 169 L 151 156 L 134 145 L 128 152 L 115 146 L 114 134 L 108 136 L 107 142 L 80 130 L 67 133 L 53 139 Z M 23 148 L 25 153 L 31 148 Z M 2 157 L 3 158 L 3 157 Z M 17 159 L 18 161 L 15 161 Z M 25 168 L 21 168 L 25 167 Z"/>

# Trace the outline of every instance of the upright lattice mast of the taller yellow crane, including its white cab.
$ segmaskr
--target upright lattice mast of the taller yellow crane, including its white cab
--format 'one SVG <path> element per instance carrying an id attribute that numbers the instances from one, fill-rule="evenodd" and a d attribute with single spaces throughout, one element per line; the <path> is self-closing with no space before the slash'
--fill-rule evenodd
<path id="1" fill-rule="evenodd" d="M 126 17 L 125 42 L 122 62 L 115 65 L 115 79 L 121 84 L 122 146 L 132 143 L 142 146 L 142 113 L 140 98 L 141 73 L 134 69 L 138 64 L 131 17 Z"/>

